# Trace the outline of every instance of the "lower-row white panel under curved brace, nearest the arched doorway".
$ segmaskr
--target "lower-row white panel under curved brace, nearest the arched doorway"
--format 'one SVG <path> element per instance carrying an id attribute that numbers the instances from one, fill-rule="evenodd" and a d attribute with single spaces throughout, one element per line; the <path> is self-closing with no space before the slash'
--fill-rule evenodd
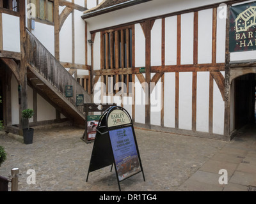
<path id="1" fill-rule="evenodd" d="M 225 103 L 221 97 L 220 89 L 213 82 L 213 119 L 212 119 L 212 132 L 216 134 L 224 134 L 224 111 Z"/>

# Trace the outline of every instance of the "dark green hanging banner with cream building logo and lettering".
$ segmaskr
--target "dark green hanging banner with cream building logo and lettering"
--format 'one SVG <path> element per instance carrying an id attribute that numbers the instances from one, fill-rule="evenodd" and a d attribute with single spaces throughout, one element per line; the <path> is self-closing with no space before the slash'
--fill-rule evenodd
<path id="1" fill-rule="evenodd" d="M 256 50 L 256 2 L 230 7 L 229 51 Z"/>

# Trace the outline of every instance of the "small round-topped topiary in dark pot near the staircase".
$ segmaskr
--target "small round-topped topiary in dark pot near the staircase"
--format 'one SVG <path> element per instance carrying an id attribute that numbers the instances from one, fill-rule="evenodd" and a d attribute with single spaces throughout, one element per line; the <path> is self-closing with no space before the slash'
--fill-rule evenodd
<path id="1" fill-rule="evenodd" d="M 25 109 L 22 111 L 22 117 L 24 119 L 31 119 L 33 117 L 34 112 L 32 109 Z M 28 128 L 23 129 L 23 138 L 24 138 L 24 143 L 26 145 L 33 143 L 33 135 L 34 135 L 34 129 L 29 128 L 29 121 L 28 121 Z"/>

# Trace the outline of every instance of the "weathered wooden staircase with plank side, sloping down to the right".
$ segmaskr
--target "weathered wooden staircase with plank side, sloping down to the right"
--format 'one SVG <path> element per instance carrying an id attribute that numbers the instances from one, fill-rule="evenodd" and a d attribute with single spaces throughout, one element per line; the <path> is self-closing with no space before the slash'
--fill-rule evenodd
<path id="1" fill-rule="evenodd" d="M 91 96 L 28 30 L 26 40 L 28 84 L 65 117 L 84 125 L 83 106 L 76 106 L 76 96 L 83 94 L 84 103 L 92 103 Z M 72 97 L 65 96 L 66 85 L 72 85 Z"/>

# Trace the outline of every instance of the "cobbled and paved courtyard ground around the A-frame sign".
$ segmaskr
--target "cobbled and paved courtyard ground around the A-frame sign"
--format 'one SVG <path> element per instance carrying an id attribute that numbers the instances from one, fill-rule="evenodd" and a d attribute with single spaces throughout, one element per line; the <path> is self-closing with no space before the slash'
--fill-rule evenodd
<path id="1" fill-rule="evenodd" d="M 243 132 L 244 131 L 244 132 Z M 256 186 L 256 130 L 241 131 L 231 142 L 135 129 L 142 173 L 120 182 L 122 191 L 247 191 Z M 93 171 L 86 182 L 93 143 L 80 138 L 83 129 L 35 129 L 30 145 L 2 133 L 0 145 L 7 160 L 0 175 L 20 169 L 19 191 L 118 191 L 111 166 Z M 218 171 L 228 171 L 228 185 L 220 185 Z M 35 170 L 36 184 L 27 184 Z"/>

